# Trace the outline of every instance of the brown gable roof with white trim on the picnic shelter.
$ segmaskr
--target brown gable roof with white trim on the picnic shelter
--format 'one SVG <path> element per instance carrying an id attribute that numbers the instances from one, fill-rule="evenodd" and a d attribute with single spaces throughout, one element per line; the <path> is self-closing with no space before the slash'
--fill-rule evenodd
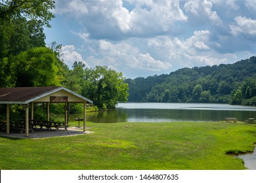
<path id="1" fill-rule="evenodd" d="M 17 87 L 17 88 L 0 88 L 0 104 L 27 104 L 32 101 L 36 101 L 47 95 L 51 95 L 60 90 L 64 90 L 70 95 L 75 95 L 82 101 L 93 103 L 90 99 L 87 99 L 67 88 L 60 86 L 44 86 L 44 87 Z"/>

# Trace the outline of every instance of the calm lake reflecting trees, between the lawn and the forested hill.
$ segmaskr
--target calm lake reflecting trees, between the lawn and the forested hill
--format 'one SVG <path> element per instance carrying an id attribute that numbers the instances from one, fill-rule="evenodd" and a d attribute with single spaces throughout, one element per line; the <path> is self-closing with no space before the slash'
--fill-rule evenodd
<path id="1" fill-rule="evenodd" d="M 215 122 L 227 117 L 240 121 L 256 118 L 256 107 L 209 103 L 119 103 L 115 110 L 87 113 L 87 121 L 95 123 Z"/>

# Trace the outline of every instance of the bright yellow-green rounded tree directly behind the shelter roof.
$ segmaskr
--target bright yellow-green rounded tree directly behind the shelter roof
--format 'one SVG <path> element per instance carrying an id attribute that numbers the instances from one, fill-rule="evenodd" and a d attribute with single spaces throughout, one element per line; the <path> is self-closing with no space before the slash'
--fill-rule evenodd
<path id="1" fill-rule="evenodd" d="M 58 60 L 50 48 L 33 48 L 11 60 L 15 86 L 58 86 Z"/>

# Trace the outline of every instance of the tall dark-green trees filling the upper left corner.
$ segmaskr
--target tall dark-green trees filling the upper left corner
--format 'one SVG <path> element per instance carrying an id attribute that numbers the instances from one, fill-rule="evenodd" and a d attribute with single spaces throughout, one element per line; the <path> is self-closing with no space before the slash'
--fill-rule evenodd
<path id="1" fill-rule="evenodd" d="M 50 26 L 52 8 L 52 0 L 0 1 L 0 87 L 15 86 L 11 67 L 18 54 L 45 46 L 43 26 Z"/>

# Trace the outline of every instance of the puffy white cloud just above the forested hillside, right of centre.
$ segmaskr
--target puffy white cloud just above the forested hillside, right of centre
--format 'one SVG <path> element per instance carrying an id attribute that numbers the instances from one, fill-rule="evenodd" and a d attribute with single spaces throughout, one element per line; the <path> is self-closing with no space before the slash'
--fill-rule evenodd
<path id="1" fill-rule="evenodd" d="M 224 58 L 211 50 L 208 30 L 195 31 L 188 39 L 182 41 L 175 37 L 156 37 L 148 41 L 148 46 L 157 50 L 159 55 L 164 55 L 173 67 L 194 67 L 200 65 L 219 65 L 228 61 L 228 55 Z M 230 56 L 230 55 L 229 55 Z"/>

